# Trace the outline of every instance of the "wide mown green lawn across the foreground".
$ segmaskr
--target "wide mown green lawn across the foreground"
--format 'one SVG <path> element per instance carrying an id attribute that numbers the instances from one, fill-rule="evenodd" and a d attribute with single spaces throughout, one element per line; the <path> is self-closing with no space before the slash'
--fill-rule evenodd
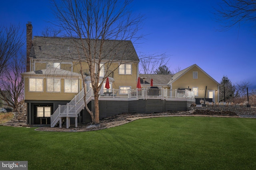
<path id="1" fill-rule="evenodd" d="M 0 160 L 28 169 L 254 169 L 256 119 L 159 117 L 90 132 L 0 127 Z"/>

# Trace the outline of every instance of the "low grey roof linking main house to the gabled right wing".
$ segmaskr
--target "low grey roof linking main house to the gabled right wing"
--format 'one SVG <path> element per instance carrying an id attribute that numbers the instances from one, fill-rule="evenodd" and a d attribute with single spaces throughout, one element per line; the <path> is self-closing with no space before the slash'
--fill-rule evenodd
<path id="1" fill-rule="evenodd" d="M 173 74 L 139 74 L 140 77 L 147 77 L 145 84 L 150 84 L 151 78 L 153 79 L 154 84 L 163 84 L 167 85 L 168 82 L 172 79 Z M 147 83 L 146 83 L 147 82 Z M 142 81 L 143 83 L 143 81 Z"/>

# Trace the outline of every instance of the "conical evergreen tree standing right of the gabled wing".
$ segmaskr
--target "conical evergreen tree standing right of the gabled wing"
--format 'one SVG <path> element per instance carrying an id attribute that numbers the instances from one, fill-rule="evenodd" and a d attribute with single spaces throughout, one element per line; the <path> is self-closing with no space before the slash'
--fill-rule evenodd
<path id="1" fill-rule="evenodd" d="M 220 82 L 220 102 L 224 102 L 224 87 L 225 87 L 225 102 L 231 101 L 235 96 L 236 87 L 228 79 L 228 76 L 223 76 Z"/>

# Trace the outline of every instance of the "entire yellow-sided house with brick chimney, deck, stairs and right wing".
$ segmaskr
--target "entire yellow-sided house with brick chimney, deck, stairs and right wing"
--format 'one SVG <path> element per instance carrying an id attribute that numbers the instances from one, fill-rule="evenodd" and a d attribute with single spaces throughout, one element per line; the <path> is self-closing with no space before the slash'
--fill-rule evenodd
<path id="1" fill-rule="evenodd" d="M 78 122 L 90 122 L 90 114 L 84 107 L 87 104 L 95 111 L 94 94 L 89 67 L 78 45 L 81 41 L 64 37 L 34 36 L 32 39 L 32 24 L 26 26 L 27 71 L 22 76 L 27 123 L 62 127 L 66 121 L 68 128 L 70 123 L 77 126 Z M 97 47 L 95 53 L 98 53 Z M 217 101 L 218 95 L 210 91 L 218 89 L 218 82 L 196 64 L 174 75 L 139 75 L 139 59 L 131 41 L 105 40 L 100 53 L 104 57 L 95 69 L 100 67 L 100 83 L 108 77 L 110 84 L 109 89 L 104 88 L 104 80 L 99 92 L 100 119 L 120 113 L 185 111 L 195 102 L 194 93 L 198 99 L 203 98 L 205 86 L 206 91 L 209 90 L 207 97 L 214 95 Z M 157 89 L 150 88 L 151 78 Z M 138 82 L 142 85 L 140 89 L 136 88 Z"/>

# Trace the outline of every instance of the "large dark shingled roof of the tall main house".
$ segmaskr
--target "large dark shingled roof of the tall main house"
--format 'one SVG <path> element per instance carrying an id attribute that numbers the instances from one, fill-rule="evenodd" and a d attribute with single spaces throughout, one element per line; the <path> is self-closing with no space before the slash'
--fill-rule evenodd
<path id="1" fill-rule="evenodd" d="M 83 39 L 83 41 L 86 48 L 88 48 L 87 39 Z M 94 51 L 94 44 L 96 44 L 95 57 L 98 59 L 101 40 L 90 39 L 89 41 L 91 44 L 90 51 Z M 84 55 L 81 42 L 77 38 L 34 36 L 30 57 L 34 59 L 78 59 L 79 54 Z M 101 58 L 103 59 L 139 61 L 132 41 L 104 40 L 103 51 L 101 52 Z"/>

